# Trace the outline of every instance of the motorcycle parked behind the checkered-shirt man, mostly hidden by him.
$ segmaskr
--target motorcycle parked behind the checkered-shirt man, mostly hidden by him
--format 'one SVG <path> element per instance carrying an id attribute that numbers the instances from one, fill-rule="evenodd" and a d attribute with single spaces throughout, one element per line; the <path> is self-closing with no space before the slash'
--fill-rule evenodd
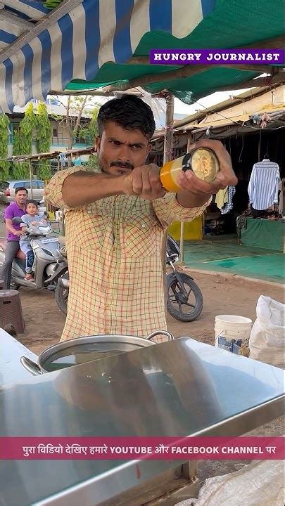
<path id="1" fill-rule="evenodd" d="M 175 268 L 179 259 L 179 245 L 170 236 L 167 238 L 166 264 L 172 268 L 166 273 L 167 311 L 176 320 L 190 322 L 196 320 L 203 309 L 203 295 L 191 276 Z M 68 311 L 69 274 L 66 271 L 55 289 L 56 304 L 63 313 Z"/>

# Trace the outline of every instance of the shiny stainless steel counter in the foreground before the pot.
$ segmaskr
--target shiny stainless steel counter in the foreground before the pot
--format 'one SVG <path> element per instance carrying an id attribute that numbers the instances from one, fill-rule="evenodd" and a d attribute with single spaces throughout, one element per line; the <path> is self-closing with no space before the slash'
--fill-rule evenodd
<path id="1" fill-rule="evenodd" d="M 282 370 L 188 337 L 27 377 L 23 348 L 15 353 L 17 342 L 4 334 L 1 374 L 10 384 L 0 390 L 0 436 L 239 435 L 283 410 Z M 18 365 L 22 381 L 11 384 L 8 368 Z M 179 465 L 141 461 L 138 478 L 137 463 L 0 462 L 0 505 L 101 505 Z"/>

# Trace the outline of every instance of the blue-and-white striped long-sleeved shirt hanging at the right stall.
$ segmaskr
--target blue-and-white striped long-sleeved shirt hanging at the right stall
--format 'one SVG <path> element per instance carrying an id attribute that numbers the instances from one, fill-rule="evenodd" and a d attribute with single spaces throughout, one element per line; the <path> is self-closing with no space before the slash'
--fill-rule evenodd
<path id="1" fill-rule="evenodd" d="M 248 183 L 249 202 L 253 209 L 262 211 L 278 202 L 280 182 L 279 165 L 267 158 L 253 165 Z"/>

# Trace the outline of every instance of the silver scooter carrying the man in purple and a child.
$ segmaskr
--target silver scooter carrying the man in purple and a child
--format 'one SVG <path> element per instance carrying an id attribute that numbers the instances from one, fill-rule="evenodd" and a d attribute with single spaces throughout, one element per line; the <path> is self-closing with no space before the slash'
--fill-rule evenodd
<path id="1" fill-rule="evenodd" d="M 21 219 L 15 217 L 12 223 L 21 223 Z M 68 270 L 68 264 L 60 252 L 58 238 L 51 237 L 52 232 L 49 223 L 27 226 L 26 233 L 31 238 L 34 252 L 34 281 L 25 280 L 25 254 L 19 249 L 12 264 L 11 289 L 18 290 L 20 286 L 27 286 L 55 290 L 58 278 Z M 4 264 L 5 249 L 6 238 L 0 238 L 0 267 Z"/>

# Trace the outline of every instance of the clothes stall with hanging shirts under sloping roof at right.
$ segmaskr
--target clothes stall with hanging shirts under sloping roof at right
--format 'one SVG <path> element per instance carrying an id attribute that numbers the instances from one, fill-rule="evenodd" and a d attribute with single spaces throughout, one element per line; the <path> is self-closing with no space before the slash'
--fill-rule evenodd
<path id="1" fill-rule="evenodd" d="M 254 204 L 257 204 L 259 208 L 264 207 L 264 211 L 274 203 L 279 203 L 278 213 L 274 216 L 268 213 L 268 217 L 270 221 L 273 218 L 277 221 L 282 218 L 284 185 L 281 186 L 279 180 L 284 178 L 285 172 L 284 93 L 284 84 L 279 84 L 271 91 L 267 88 L 256 88 L 236 94 L 211 108 L 204 108 L 202 103 L 198 103 L 197 107 L 201 110 L 175 122 L 173 132 L 175 158 L 186 153 L 189 141 L 194 142 L 202 138 L 219 139 L 231 154 L 233 168 L 239 179 L 236 188 L 231 188 L 230 193 L 227 190 L 213 196 L 213 201 L 205 212 L 203 223 L 201 220 L 200 236 L 195 233 L 195 228 L 192 234 L 184 235 L 185 240 L 198 240 L 210 235 L 222 235 L 224 239 L 229 235 L 230 240 L 232 238 L 230 234 L 236 231 L 236 217 L 248 208 L 250 199 L 254 200 Z M 163 131 L 156 131 L 152 140 L 152 161 L 158 165 L 161 164 L 163 157 L 163 134 Z M 262 162 L 266 153 L 270 156 L 268 170 L 272 173 L 270 188 L 265 169 L 261 167 L 259 170 L 260 165 L 258 165 L 253 171 L 255 164 Z M 252 173 L 255 176 L 254 179 L 251 178 Z M 252 184 L 248 186 L 251 179 Z M 251 195 L 248 194 L 248 188 Z M 268 200 L 267 194 L 273 198 Z M 275 211 L 277 211 L 277 205 Z M 262 218 L 264 219 L 265 216 Z M 268 223 L 267 226 L 270 227 Z M 276 230 L 277 228 L 272 227 L 273 243 Z M 245 233 L 244 228 L 242 233 Z M 251 242 L 248 240 L 248 232 L 246 236 L 246 243 L 243 242 L 243 244 L 249 245 Z M 281 235 L 279 235 L 280 241 Z M 255 240 L 253 242 L 258 247 L 262 247 L 260 246 L 261 239 L 259 242 Z M 270 245 L 270 240 L 268 245 Z"/>

